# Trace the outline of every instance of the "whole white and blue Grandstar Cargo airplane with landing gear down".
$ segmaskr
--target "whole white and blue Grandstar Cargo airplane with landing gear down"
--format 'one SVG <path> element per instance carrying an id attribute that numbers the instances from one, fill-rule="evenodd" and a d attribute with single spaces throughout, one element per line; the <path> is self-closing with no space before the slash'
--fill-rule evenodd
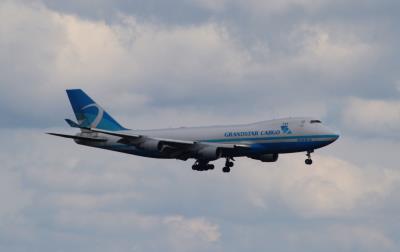
<path id="1" fill-rule="evenodd" d="M 196 171 L 213 170 L 210 162 L 226 160 L 228 173 L 237 157 L 276 162 L 280 154 L 311 153 L 339 138 L 339 134 L 310 117 L 282 118 L 250 124 L 131 130 L 123 127 L 81 89 L 66 90 L 77 122 L 65 119 L 76 135 L 47 133 L 77 144 L 148 158 L 194 159 Z"/>

